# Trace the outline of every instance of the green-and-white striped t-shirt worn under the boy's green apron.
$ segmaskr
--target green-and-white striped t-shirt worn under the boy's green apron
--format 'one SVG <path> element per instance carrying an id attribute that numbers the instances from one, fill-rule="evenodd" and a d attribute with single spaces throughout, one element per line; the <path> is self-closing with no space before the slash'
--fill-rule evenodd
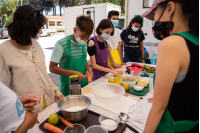
<path id="1" fill-rule="evenodd" d="M 56 42 L 52 55 L 51 61 L 59 63 L 61 68 L 64 68 L 67 59 L 67 37 Z M 87 50 L 87 45 L 85 44 L 85 50 Z M 83 56 L 82 45 L 78 45 L 76 42 L 71 40 L 71 54 L 72 58 L 78 58 Z"/>

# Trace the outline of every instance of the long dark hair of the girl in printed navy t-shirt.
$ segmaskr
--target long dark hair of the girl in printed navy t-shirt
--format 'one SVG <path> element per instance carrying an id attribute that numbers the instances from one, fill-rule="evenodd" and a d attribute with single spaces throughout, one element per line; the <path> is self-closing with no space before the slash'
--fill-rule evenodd
<path id="1" fill-rule="evenodd" d="M 142 17 L 141 16 L 136 16 L 136 17 L 132 18 L 132 20 L 130 21 L 128 27 L 126 28 L 125 38 L 126 38 L 126 35 L 127 35 L 128 31 L 132 30 L 132 24 L 134 24 L 134 23 L 139 23 L 139 24 L 141 24 L 141 27 L 142 27 L 142 23 L 143 23 Z M 142 32 L 142 28 L 141 27 L 139 28 L 139 30 L 137 32 L 138 33 L 138 38 L 139 38 L 140 33 Z M 124 38 L 124 40 L 125 40 L 125 38 Z"/>

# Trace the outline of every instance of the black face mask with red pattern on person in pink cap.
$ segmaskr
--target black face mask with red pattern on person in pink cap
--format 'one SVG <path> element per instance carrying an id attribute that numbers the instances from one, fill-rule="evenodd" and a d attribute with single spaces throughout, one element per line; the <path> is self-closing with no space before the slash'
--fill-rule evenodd
<path id="1" fill-rule="evenodd" d="M 166 8 L 167 7 L 165 7 L 165 9 Z M 163 13 L 165 12 L 165 9 L 164 9 Z M 161 14 L 160 18 L 162 17 L 163 13 Z M 158 40 L 162 40 L 165 37 L 170 36 L 172 33 L 172 29 L 174 27 L 174 23 L 171 22 L 172 17 L 169 22 L 159 22 L 160 18 L 158 19 L 158 21 L 156 21 L 155 25 L 152 27 L 153 35 Z"/>

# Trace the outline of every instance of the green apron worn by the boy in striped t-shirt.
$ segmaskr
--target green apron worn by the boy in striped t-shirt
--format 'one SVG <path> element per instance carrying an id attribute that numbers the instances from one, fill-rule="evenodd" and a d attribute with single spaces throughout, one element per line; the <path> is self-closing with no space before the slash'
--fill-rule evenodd
<path id="1" fill-rule="evenodd" d="M 67 50 L 67 58 L 66 58 L 65 66 L 63 69 L 78 71 L 78 72 L 81 72 L 82 74 L 86 75 L 87 52 L 85 50 L 85 45 L 82 46 L 83 56 L 78 57 L 78 58 L 72 58 L 71 37 L 72 37 L 72 35 L 67 36 L 67 49 L 66 49 Z M 84 87 L 88 84 L 87 78 L 82 79 L 80 81 L 81 81 L 81 87 Z M 67 96 L 70 94 L 69 76 L 60 75 L 59 90 L 64 96 Z"/>

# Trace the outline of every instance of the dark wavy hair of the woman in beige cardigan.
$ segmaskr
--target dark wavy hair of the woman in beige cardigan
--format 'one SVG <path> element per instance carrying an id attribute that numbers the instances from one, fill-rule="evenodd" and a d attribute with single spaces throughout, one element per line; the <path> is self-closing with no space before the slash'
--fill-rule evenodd
<path id="1" fill-rule="evenodd" d="M 31 44 L 31 38 L 37 38 L 37 33 L 46 24 L 46 18 L 29 5 L 20 6 L 14 13 L 13 22 L 7 26 L 11 39 L 20 45 Z"/>

